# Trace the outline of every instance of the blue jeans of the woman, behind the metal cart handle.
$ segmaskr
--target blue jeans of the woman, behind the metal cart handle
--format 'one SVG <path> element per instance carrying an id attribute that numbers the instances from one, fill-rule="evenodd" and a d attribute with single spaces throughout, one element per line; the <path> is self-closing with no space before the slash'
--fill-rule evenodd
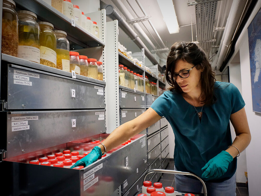
<path id="1" fill-rule="evenodd" d="M 177 170 L 174 166 L 174 170 Z M 185 193 L 201 193 L 203 188 L 199 180 L 185 175 L 175 174 L 176 191 Z M 236 175 L 224 182 L 205 182 L 208 196 L 236 196 Z"/>

